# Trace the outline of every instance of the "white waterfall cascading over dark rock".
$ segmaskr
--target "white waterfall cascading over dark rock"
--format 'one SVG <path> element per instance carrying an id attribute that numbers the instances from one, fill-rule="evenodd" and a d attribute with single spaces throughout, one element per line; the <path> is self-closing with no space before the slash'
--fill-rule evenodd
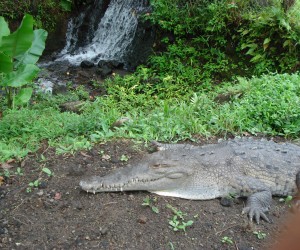
<path id="1" fill-rule="evenodd" d="M 126 57 L 133 50 L 138 16 L 148 11 L 146 0 L 111 0 L 108 5 L 96 0 L 70 20 L 66 46 L 57 61 L 79 65 L 84 60 L 94 63 L 115 60 L 126 64 Z"/>

